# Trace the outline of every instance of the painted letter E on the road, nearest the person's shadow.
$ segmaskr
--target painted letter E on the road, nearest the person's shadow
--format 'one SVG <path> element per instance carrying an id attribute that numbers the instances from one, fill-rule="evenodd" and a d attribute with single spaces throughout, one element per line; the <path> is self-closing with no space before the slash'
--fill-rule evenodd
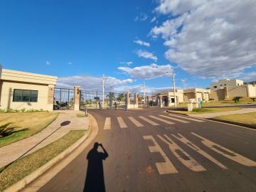
<path id="1" fill-rule="evenodd" d="M 161 156 L 164 158 L 165 162 L 156 162 L 156 168 L 159 171 L 159 174 L 178 174 L 177 169 L 175 166 L 171 163 L 170 159 L 166 156 L 163 149 L 159 146 L 159 144 L 156 142 L 153 136 L 143 136 L 143 139 L 145 140 L 151 140 L 154 143 L 154 146 L 149 146 L 149 151 L 151 153 L 159 152 Z"/>

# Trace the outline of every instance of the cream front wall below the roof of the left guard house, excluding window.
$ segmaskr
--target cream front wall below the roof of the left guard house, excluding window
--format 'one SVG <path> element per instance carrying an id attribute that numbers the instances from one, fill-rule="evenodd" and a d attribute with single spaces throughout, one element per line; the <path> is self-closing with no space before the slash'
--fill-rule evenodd
<path id="1" fill-rule="evenodd" d="M 48 100 L 48 85 L 37 85 L 21 82 L 8 82 L 1 81 L 1 109 L 14 109 L 21 110 L 26 108 L 26 110 L 53 110 L 53 102 L 49 103 Z M 53 88 L 53 87 L 52 87 Z M 14 89 L 19 90 L 38 90 L 38 102 L 13 102 Z"/>

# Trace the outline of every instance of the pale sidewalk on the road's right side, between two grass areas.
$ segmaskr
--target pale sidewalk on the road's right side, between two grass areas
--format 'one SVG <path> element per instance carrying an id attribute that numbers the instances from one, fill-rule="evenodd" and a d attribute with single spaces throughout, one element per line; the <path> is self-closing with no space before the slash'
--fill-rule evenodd
<path id="1" fill-rule="evenodd" d="M 228 115 L 228 114 L 242 114 L 248 112 L 256 112 L 256 108 L 244 108 L 242 110 L 228 111 L 228 112 L 214 112 L 214 113 L 205 113 L 205 114 L 188 114 L 191 117 L 199 117 L 199 118 L 213 118 L 220 115 Z"/>

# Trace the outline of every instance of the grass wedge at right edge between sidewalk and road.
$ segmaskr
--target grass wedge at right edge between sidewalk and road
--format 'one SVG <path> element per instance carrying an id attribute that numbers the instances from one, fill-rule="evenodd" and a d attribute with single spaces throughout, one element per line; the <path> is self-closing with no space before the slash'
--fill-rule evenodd
<path id="1" fill-rule="evenodd" d="M 252 124 L 256 126 L 256 112 L 223 115 L 215 117 L 215 119 L 222 119 L 230 122 L 239 122 L 244 124 Z"/>

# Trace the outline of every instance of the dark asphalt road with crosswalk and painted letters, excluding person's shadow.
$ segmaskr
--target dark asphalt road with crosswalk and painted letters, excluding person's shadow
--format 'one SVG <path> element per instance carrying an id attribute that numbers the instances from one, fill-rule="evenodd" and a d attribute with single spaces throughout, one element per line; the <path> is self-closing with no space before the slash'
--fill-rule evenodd
<path id="1" fill-rule="evenodd" d="M 92 142 L 40 191 L 256 191 L 256 130 L 159 108 L 90 113 L 107 153 L 92 150 L 88 165 Z"/>

